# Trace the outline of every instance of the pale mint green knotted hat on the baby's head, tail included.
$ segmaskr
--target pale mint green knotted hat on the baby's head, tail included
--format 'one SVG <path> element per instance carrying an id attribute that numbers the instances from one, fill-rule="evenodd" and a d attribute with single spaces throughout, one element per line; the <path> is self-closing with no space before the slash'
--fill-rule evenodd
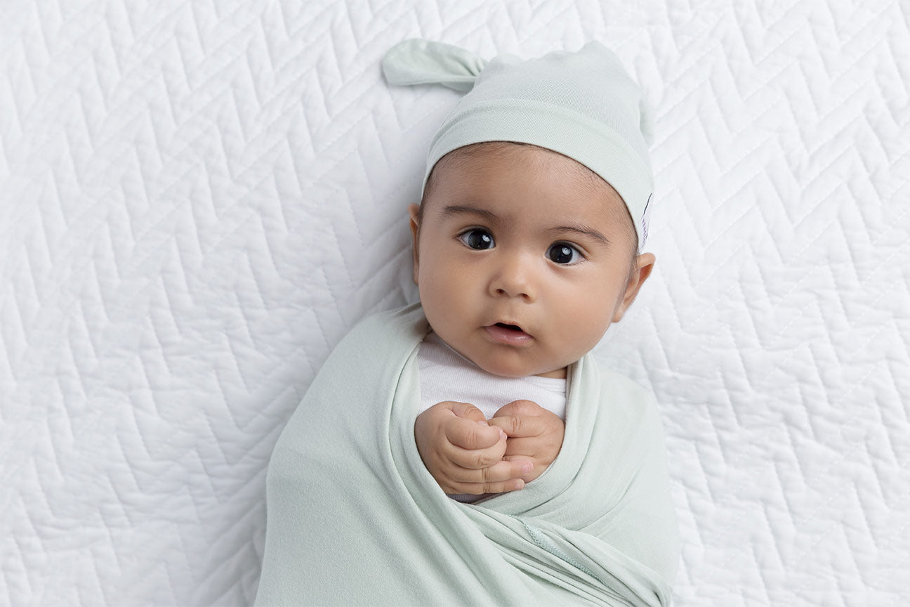
<path id="1" fill-rule="evenodd" d="M 459 147 L 513 141 L 580 162 L 622 197 L 638 234 L 648 238 L 653 177 L 650 112 L 642 90 L 598 42 L 577 53 L 485 61 L 458 46 L 406 40 L 382 58 L 389 85 L 440 84 L 465 93 L 430 142 L 427 170 Z"/>

